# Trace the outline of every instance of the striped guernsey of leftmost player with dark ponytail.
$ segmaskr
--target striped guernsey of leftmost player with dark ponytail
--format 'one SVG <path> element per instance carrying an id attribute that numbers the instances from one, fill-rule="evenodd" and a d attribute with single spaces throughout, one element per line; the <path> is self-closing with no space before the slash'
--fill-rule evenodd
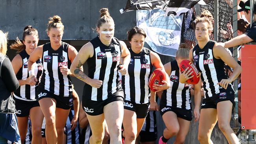
<path id="1" fill-rule="evenodd" d="M 16 74 L 17 79 L 27 79 L 29 78 L 28 74 L 28 59 L 30 55 L 27 54 L 26 50 L 23 50 L 19 53 L 20 57 L 22 58 L 22 67 L 19 69 L 18 73 Z M 41 63 L 41 59 L 36 61 L 36 65 L 34 65 L 34 73 L 38 80 L 40 80 L 40 76 L 42 75 L 43 65 Z M 39 81 L 33 85 L 20 85 L 20 87 L 15 90 L 14 97 L 20 100 L 25 101 L 35 101 L 37 100 L 36 96 L 36 89 Z"/>

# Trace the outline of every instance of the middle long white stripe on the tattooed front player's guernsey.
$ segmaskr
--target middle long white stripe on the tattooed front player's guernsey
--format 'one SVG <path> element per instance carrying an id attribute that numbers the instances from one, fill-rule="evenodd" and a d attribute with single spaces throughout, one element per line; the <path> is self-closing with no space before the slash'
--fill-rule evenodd
<path id="1" fill-rule="evenodd" d="M 113 61 L 111 52 L 106 52 L 105 55 L 107 58 L 107 65 L 105 69 L 104 81 L 102 84 L 102 100 L 106 100 L 108 98 L 108 81 Z"/>

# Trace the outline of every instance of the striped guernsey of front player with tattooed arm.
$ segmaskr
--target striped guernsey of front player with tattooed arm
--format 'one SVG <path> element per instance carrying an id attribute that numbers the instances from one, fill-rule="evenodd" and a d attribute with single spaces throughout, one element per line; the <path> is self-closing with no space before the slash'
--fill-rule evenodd
<path id="1" fill-rule="evenodd" d="M 104 45 L 98 36 L 90 42 L 93 44 L 94 54 L 93 57 L 87 59 L 88 76 L 91 79 L 103 81 L 103 84 L 97 89 L 85 83 L 83 98 L 102 101 L 122 89 L 117 69 L 122 52 L 121 46 L 115 37 L 109 46 Z"/>

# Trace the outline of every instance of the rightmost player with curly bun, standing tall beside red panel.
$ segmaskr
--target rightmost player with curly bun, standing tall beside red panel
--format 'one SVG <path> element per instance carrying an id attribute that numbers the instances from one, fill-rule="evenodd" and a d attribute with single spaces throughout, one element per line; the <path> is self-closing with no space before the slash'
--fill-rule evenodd
<path id="1" fill-rule="evenodd" d="M 213 16 L 204 10 L 195 20 L 195 35 L 198 44 L 189 52 L 200 72 L 205 91 L 199 120 L 198 140 L 201 144 L 212 144 L 211 132 L 218 121 L 219 128 L 229 144 L 239 144 L 238 138 L 230 127 L 234 90 L 232 81 L 241 73 L 241 66 L 228 54 L 223 46 L 211 41 Z M 227 78 L 224 64 L 233 68 L 233 74 Z"/>

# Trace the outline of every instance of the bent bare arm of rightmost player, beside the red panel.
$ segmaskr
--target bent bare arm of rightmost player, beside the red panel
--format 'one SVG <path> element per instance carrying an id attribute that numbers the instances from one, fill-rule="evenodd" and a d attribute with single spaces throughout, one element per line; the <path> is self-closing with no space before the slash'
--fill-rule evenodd
<path id="1" fill-rule="evenodd" d="M 228 84 L 234 81 L 239 76 L 239 74 L 241 74 L 242 68 L 221 45 L 215 44 L 213 48 L 213 56 L 216 59 L 223 60 L 224 63 L 226 63 L 231 68 L 233 68 L 232 76 L 230 76 L 228 79 L 222 79 L 218 83 L 219 85 L 221 85 L 223 88 L 226 89 L 228 87 Z"/>

